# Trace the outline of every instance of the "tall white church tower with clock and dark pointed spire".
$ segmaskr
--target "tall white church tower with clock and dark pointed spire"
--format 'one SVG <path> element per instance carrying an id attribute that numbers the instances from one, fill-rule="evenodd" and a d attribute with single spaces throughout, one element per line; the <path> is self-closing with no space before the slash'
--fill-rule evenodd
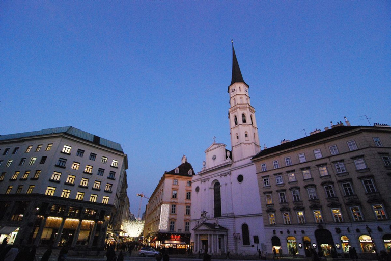
<path id="1" fill-rule="evenodd" d="M 248 85 L 244 82 L 232 44 L 232 80 L 230 94 L 231 146 L 233 161 L 240 161 L 257 154 L 260 150 L 255 109 L 250 105 Z"/>

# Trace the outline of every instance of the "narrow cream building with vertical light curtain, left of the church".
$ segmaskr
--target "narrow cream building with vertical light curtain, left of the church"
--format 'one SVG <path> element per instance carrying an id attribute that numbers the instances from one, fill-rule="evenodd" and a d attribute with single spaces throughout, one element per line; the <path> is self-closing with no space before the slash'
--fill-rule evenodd
<path id="1" fill-rule="evenodd" d="M 163 174 L 146 207 L 145 243 L 177 249 L 177 253 L 184 253 L 189 247 L 193 175 L 186 156 L 181 165 Z"/>

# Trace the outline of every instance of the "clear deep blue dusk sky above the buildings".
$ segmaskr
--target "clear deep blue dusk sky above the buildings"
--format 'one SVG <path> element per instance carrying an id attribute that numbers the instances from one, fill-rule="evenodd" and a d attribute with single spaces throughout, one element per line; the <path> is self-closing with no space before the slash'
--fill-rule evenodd
<path id="1" fill-rule="evenodd" d="M 185 154 L 230 149 L 231 38 L 261 144 L 390 120 L 389 1 L 0 3 L 0 134 L 74 126 L 128 154 L 150 196 Z M 142 211 L 147 200 L 143 199 Z"/>

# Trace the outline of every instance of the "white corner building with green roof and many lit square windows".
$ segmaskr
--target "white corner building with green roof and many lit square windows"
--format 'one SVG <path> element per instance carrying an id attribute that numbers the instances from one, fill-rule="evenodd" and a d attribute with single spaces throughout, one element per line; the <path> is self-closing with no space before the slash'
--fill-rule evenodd
<path id="1" fill-rule="evenodd" d="M 74 127 L 0 136 L 0 240 L 103 247 L 129 212 L 127 167 L 119 143 Z"/>

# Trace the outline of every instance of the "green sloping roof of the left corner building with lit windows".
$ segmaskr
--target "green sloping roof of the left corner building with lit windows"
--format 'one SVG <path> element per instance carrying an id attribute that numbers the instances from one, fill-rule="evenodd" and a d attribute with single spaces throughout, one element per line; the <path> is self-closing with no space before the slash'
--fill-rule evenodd
<path id="1" fill-rule="evenodd" d="M 72 127 L 72 126 L 66 126 L 66 127 L 58 127 L 58 128 L 46 128 L 41 129 L 41 131 L 34 131 L 34 132 L 25 132 L 25 133 L 15 133 L 15 134 L 6 134 L 6 135 L 0 135 L 0 141 L 5 140 L 13 140 L 13 139 L 21 139 L 21 138 L 27 138 L 27 137 L 36 137 L 36 136 L 42 136 L 42 135 L 50 135 L 50 134 L 60 134 L 64 133 L 85 141 L 89 141 L 91 143 L 114 149 L 120 152 L 123 152 L 123 149 L 121 147 L 121 144 L 109 141 L 104 138 L 101 138 L 99 136 L 93 135 L 91 133 L 81 131 L 81 129 Z"/>

